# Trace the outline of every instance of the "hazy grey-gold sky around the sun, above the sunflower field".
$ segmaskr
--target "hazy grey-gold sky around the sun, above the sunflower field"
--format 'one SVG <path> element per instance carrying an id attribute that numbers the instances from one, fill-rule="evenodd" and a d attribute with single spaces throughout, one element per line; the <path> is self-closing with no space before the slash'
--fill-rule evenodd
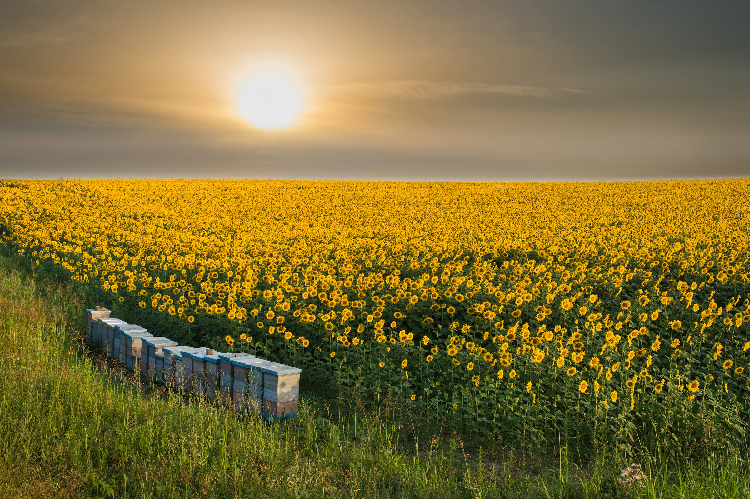
<path id="1" fill-rule="evenodd" d="M 750 176 L 750 2 L 0 0 L 0 178 Z M 294 74 L 288 128 L 238 115 Z"/>

